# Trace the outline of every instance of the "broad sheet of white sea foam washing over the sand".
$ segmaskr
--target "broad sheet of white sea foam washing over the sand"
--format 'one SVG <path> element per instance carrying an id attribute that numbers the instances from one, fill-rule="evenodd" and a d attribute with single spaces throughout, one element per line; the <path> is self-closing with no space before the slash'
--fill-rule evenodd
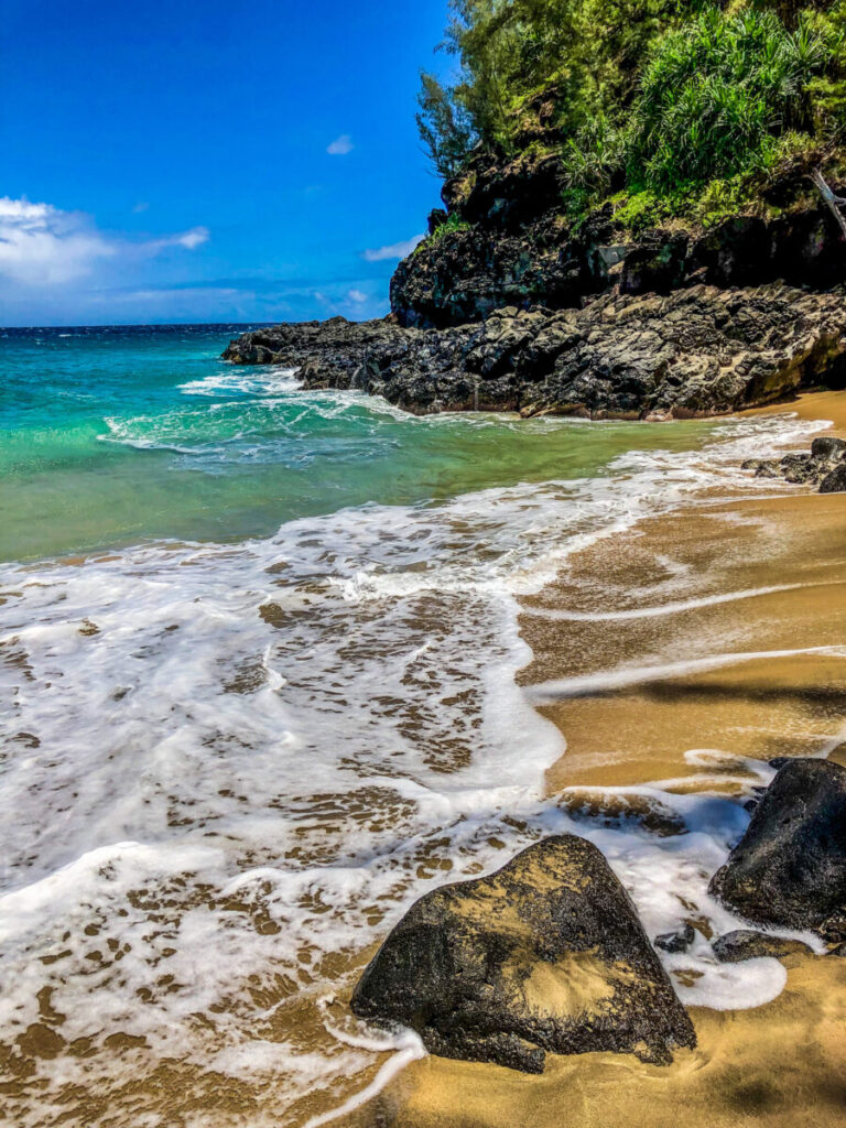
<path id="1" fill-rule="evenodd" d="M 746 825 L 737 803 L 659 788 L 689 832 L 658 839 L 544 801 L 563 743 L 515 685 L 530 656 L 517 597 L 597 537 L 703 487 L 734 490 L 738 458 L 803 428 L 729 422 L 704 452 L 628 455 L 594 479 L 0 569 L 0 787 L 14 812 L 0 1023 L 18 1037 L 47 988 L 62 1037 L 97 1049 L 83 1066 L 39 1063 L 21 1128 L 74 1069 L 107 1091 L 173 1057 L 263 1078 L 279 1095 L 254 1128 L 316 1089 L 352 1110 L 418 1046 L 402 1036 L 382 1061 L 387 1043 L 360 1028 L 327 1032 L 321 961 L 346 953 L 343 995 L 413 899 L 543 834 L 592 838 L 651 935 L 690 906 L 716 931 L 737 926 L 707 896 Z M 752 786 L 767 770 L 741 775 Z M 667 962 L 696 973 L 684 997 L 702 1005 L 757 1005 L 783 984 L 776 961 L 726 970 L 704 941 Z M 291 1005 L 299 1025 L 282 1037 Z M 109 1054 L 116 1032 L 143 1048 Z"/>

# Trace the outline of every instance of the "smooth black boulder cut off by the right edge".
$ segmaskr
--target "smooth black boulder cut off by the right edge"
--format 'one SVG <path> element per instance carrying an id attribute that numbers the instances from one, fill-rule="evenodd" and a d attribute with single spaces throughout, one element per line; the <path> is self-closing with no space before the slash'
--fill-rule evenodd
<path id="1" fill-rule="evenodd" d="M 757 924 L 846 936 L 846 768 L 786 764 L 710 889 Z"/>

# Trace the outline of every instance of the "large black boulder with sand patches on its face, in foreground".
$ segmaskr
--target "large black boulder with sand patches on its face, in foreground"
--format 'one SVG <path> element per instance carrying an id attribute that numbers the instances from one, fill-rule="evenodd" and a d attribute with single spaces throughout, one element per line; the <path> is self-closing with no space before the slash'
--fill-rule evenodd
<path id="1" fill-rule="evenodd" d="M 628 895 L 574 835 L 426 893 L 364 970 L 352 1008 L 412 1026 L 442 1057 L 527 1073 L 543 1070 L 547 1050 L 667 1064 L 696 1045 Z"/>

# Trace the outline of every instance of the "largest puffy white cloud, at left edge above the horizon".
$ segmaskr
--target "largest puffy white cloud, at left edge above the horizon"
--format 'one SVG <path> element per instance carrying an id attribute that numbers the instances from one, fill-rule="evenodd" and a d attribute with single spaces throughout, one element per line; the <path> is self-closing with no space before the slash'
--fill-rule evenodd
<path id="1" fill-rule="evenodd" d="M 102 259 L 147 258 L 168 247 L 194 250 L 209 230 L 130 241 L 99 231 L 89 215 L 52 204 L 0 197 L 0 277 L 27 285 L 62 285 L 91 274 Z"/>

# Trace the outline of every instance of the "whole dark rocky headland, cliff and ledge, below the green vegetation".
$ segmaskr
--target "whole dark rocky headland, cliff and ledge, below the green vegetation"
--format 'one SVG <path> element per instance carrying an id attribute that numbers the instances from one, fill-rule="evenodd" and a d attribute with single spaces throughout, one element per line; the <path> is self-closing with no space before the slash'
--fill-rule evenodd
<path id="1" fill-rule="evenodd" d="M 563 191 L 553 155 L 476 157 L 399 264 L 389 318 L 276 326 L 223 355 L 415 413 L 660 418 L 846 384 L 846 240 L 807 178 L 707 229 L 636 235 L 613 202 L 567 222 Z"/>

